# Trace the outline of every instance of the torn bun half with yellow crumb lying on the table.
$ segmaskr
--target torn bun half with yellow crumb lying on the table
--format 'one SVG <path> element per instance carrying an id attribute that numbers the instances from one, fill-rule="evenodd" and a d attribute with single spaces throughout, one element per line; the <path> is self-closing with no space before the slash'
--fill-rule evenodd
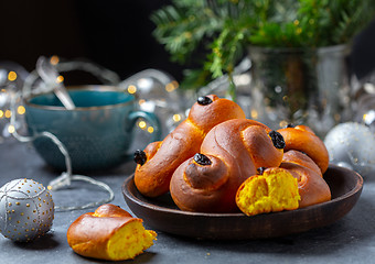
<path id="1" fill-rule="evenodd" d="M 142 220 L 114 205 L 77 218 L 67 230 L 67 243 L 79 255 L 121 261 L 150 248 L 157 233 L 144 230 Z"/>

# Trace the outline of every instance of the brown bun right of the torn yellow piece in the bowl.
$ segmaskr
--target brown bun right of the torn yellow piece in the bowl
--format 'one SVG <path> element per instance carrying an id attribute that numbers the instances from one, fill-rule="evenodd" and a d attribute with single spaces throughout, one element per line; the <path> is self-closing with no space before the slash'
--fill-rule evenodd
<path id="1" fill-rule="evenodd" d="M 301 196 L 299 208 L 331 200 L 330 187 L 320 168 L 306 154 L 298 151 L 286 152 L 280 167 L 286 168 L 298 180 Z"/>

